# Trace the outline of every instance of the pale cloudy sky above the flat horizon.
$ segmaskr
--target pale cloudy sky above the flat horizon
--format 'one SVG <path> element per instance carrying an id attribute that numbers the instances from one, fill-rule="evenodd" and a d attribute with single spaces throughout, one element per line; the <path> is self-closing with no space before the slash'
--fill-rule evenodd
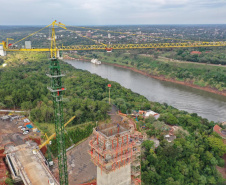
<path id="1" fill-rule="evenodd" d="M 226 0 L 0 0 L 0 7 L 0 25 L 226 23 Z"/>

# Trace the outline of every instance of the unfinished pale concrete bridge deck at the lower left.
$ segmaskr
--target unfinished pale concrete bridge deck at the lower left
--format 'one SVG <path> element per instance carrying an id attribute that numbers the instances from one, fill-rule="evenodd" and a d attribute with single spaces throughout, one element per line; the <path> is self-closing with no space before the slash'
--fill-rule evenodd
<path id="1" fill-rule="evenodd" d="M 25 144 L 6 148 L 6 162 L 12 179 L 23 182 L 24 185 L 59 185 L 41 151 L 33 152 L 36 147 L 36 143 L 27 141 Z"/>

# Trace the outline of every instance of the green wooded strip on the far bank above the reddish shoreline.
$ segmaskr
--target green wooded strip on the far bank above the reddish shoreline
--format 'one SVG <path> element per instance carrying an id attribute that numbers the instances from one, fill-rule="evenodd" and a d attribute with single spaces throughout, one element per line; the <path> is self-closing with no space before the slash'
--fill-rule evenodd
<path id="1" fill-rule="evenodd" d="M 98 58 L 104 62 L 134 67 L 155 76 L 185 81 L 201 87 L 211 87 L 219 91 L 226 90 L 226 68 L 194 63 L 160 61 L 157 56 L 138 54 L 95 52 L 87 54 L 90 58 Z"/>

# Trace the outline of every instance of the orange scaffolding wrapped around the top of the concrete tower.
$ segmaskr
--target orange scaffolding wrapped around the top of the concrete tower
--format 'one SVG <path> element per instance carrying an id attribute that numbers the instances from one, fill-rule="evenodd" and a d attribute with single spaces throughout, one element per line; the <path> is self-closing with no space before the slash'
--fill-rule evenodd
<path id="1" fill-rule="evenodd" d="M 94 128 L 89 145 L 91 160 L 101 169 L 101 174 L 130 165 L 132 183 L 140 182 L 140 145 L 134 136 L 131 137 L 128 123 L 104 124 Z"/>

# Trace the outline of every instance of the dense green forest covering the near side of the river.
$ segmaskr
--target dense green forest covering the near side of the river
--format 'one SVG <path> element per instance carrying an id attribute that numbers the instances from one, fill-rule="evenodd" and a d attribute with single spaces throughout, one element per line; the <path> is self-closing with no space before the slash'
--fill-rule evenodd
<path id="1" fill-rule="evenodd" d="M 32 121 L 53 125 L 52 97 L 46 88 L 50 83 L 46 76 L 48 60 L 45 58 L 46 55 L 42 53 L 10 54 L 2 58 L 7 66 L 0 67 L 0 107 L 28 110 Z M 135 64 L 135 60 L 130 62 Z M 139 63 L 148 66 L 138 57 L 136 64 Z M 152 65 L 161 66 L 158 62 L 152 62 Z M 66 129 L 67 147 L 88 137 L 96 121 L 109 118 L 107 85 L 111 83 L 112 101 L 122 112 L 151 109 L 161 115 L 159 120 L 150 117 L 137 122 L 139 130 L 145 125 L 142 131 L 160 141 L 158 148 L 154 148 L 153 142 L 149 140 L 142 144 L 143 184 L 223 184 L 224 179 L 216 170 L 216 165 L 224 166 L 221 157 L 226 153 L 226 146 L 213 133 L 214 122 L 167 104 L 150 102 L 118 83 L 74 69 L 64 62 L 61 63 L 61 69 L 66 74 L 63 78 L 63 85 L 67 89 L 64 94 L 65 120 L 76 115 L 76 119 Z M 164 139 L 166 130 L 163 128 L 169 125 L 181 127 L 177 138 L 171 143 Z M 51 149 L 56 154 L 56 140 L 53 140 Z"/>

